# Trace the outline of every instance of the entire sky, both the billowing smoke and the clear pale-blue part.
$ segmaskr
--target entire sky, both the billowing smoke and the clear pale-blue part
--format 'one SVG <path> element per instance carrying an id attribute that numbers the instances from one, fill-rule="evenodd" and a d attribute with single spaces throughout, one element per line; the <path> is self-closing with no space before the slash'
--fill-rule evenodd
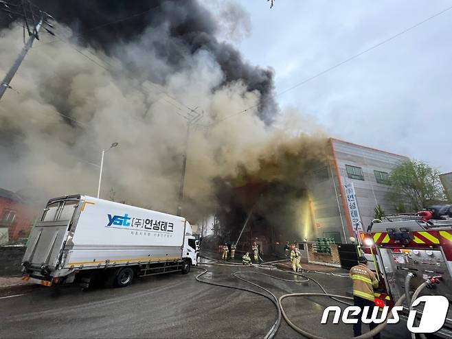
<path id="1" fill-rule="evenodd" d="M 218 187 L 284 183 L 293 166 L 308 172 L 300 167 L 309 161 L 293 159 L 325 161 L 326 135 L 452 167 L 452 11 L 275 95 L 446 3 L 35 3 L 69 42 L 41 34 L 1 100 L 0 187 L 46 199 L 95 195 L 100 151 L 118 142 L 106 153 L 101 196 L 175 213 L 188 107 L 204 114 L 188 144 L 191 220 L 218 209 Z M 1 26 L 3 73 L 22 32 L 5 16 Z M 302 191 L 303 180 L 297 185 Z"/>

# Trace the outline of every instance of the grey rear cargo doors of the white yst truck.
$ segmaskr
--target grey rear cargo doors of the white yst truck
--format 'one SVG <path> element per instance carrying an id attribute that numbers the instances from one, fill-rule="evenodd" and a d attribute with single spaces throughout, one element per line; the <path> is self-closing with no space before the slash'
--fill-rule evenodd
<path id="1" fill-rule="evenodd" d="M 78 200 L 50 200 L 37 222 L 23 257 L 27 270 L 55 270 Z"/>

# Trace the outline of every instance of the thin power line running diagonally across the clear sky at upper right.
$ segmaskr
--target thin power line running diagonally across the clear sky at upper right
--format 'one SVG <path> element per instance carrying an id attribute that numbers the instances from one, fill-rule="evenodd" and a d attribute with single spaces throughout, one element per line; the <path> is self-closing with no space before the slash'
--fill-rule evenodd
<path id="1" fill-rule="evenodd" d="M 416 23 L 415 25 L 412 25 L 411 27 L 408 27 L 405 30 L 403 30 L 401 32 L 398 32 L 397 34 L 394 34 L 393 36 L 390 36 L 389 38 L 381 41 L 380 43 L 377 43 L 376 45 L 373 45 L 372 47 L 369 47 L 368 49 L 365 49 L 364 51 L 361 51 L 358 54 L 354 54 L 354 56 L 350 56 L 350 58 L 347 58 L 346 60 L 343 60 L 343 61 L 337 63 L 336 65 L 333 65 L 332 67 L 328 67 L 328 69 L 325 69 L 324 71 L 316 73 L 315 75 L 313 75 L 313 76 L 311 76 L 309 78 L 306 78 L 302 82 L 299 82 L 299 83 L 289 87 L 288 89 L 285 89 L 284 91 L 276 93 L 275 96 L 278 97 L 278 96 L 280 96 L 280 95 L 282 95 L 284 93 L 287 93 L 289 91 L 292 91 L 293 89 L 296 89 L 299 86 L 302 86 L 302 85 L 306 84 L 306 82 L 310 82 L 311 80 L 314 80 L 315 78 L 319 78 L 319 76 L 324 75 L 325 73 L 328 73 L 329 71 L 332 71 L 333 69 L 336 69 L 337 67 L 341 67 L 342 65 L 346 64 L 347 62 L 350 62 L 351 60 L 359 58 L 359 56 L 362 56 L 363 54 L 366 54 L 366 53 L 372 51 L 373 49 L 376 49 L 377 47 L 380 47 L 381 45 L 384 45 L 385 43 L 388 43 L 389 41 L 394 40 L 395 38 L 398 38 L 398 36 L 401 36 L 401 35 L 409 32 L 409 31 L 413 30 L 414 28 L 422 25 L 423 23 L 426 23 L 427 21 L 430 21 L 431 19 L 436 18 L 436 16 L 440 16 L 441 14 L 444 14 L 445 12 L 447 12 L 447 11 L 449 11 L 451 9 L 452 9 L 452 6 L 446 8 L 446 9 L 444 9 L 444 10 L 442 10 L 442 11 L 436 13 L 436 14 L 433 14 L 432 16 L 429 16 L 427 19 L 424 19 L 424 20 Z M 231 115 L 227 115 L 226 117 L 223 117 L 222 119 L 219 119 L 218 121 L 215 121 L 214 123 L 212 123 L 212 127 L 216 126 L 217 124 L 219 124 L 222 121 L 225 121 L 226 119 L 229 119 L 231 117 L 235 117 L 236 115 L 240 115 L 242 113 L 247 113 L 247 111 L 250 110 L 251 108 L 256 108 L 258 106 L 259 106 L 259 104 L 254 104 L 253 106 L 249 106 L 248 108 L 245 108 L 244 110 L 240 110 L 240 111 L 238 111 L 236 113 L 233 113 Z"/>

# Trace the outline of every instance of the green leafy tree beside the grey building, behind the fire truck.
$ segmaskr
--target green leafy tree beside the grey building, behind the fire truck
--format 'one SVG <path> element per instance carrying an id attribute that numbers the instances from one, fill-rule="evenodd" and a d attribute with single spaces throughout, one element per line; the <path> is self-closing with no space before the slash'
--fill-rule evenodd
<path id="1" fill-rule="evenodd" d="M 392 191 L 389 198 L 405 211 L 420 211 L 444 200 L 439 172 L 422 161 L 405 161 L 389 174 Z"/>

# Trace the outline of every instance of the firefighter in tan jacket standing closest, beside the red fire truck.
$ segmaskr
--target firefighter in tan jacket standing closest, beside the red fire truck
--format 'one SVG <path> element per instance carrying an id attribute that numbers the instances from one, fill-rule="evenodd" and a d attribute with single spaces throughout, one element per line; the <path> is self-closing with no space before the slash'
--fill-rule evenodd
<path id="1" fill-rule="evenodd" d="M 364 306 L 374 307 L 374 288 L 378 287 L 374 272 L 368 268 L 368 259 L 359 257 L 359 264 L 350 269 L 350 278 L 353 281 L 353 304 L 363 311 Z M 361 312 L 357 314 L 358 322 L 353 325 L 354 336 L 361 336 Z M 370 330 L 376 327 L 376 323 L 370 323 Z M 380 334 L 376 334 L 374 339 L 379 339 Z"/>

